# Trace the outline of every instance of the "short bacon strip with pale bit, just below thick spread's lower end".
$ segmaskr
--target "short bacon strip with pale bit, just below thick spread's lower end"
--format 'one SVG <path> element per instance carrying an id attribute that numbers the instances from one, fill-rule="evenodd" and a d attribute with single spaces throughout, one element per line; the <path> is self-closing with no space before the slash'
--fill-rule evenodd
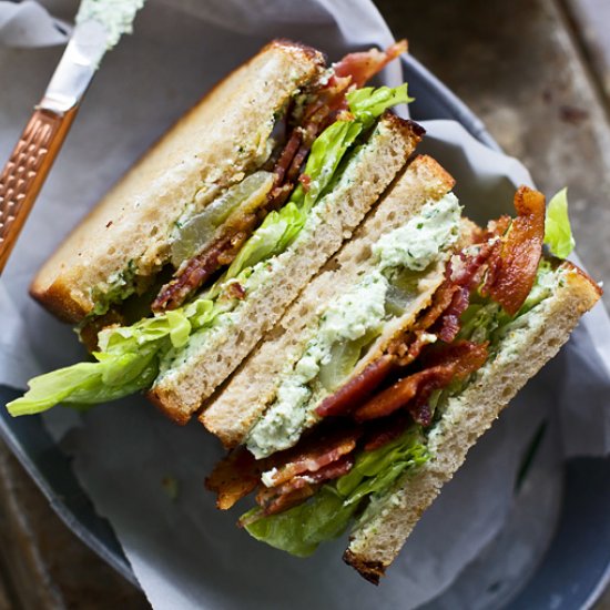
<path id="1" fill-rule="evenodd" d="M 356 448 L 362 431 L 358 428 L 344 429 L 327 437 L 307 439 L 288 451 L 274 456 L 275 471 L 272 477 L 274 487 L 297 475 L 318 471 L 337 461 Z"/>

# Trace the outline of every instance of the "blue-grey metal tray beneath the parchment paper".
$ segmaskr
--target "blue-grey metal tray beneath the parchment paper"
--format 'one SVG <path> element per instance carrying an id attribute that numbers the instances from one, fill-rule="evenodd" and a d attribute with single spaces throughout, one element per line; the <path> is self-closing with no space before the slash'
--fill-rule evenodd
<path id="1" fill-rule="evenodd" d="M 415 120 L 453 119 L 485 145 L 499 150 L 484 124 L 417 60 L 404 60 L 417 100 Z M 0 386 L 0 403 L 18 395 Z M 138 586 L 114 532 L 77 481 L 69 458 L 40 417 L 11 418 L 0 409 L 0 434 L 65 525 L 125 579 Z M 610 459 L 579 458 L 565 466 L 565 494 L 555 537 L 510 609 L 589 608 L 610 580 Z"/>

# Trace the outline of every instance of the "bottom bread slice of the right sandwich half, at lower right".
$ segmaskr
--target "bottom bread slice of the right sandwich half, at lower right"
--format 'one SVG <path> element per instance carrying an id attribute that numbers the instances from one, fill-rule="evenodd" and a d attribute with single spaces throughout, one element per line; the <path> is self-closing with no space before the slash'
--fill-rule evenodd
<path id="1" fill-rule="evenodd" d="M 570 263 L 559 270 L 556 293 L 540 312 L 502 339 L 489 360 L 459 395 L 449 399 L 429 436 L 433 459 L 407 475 L 377 505 L 375 514 L 352 531 L 347 563 L 378 583 L 406 539 L 456 470 L 468 449 L 487 430 L 526 382 L 568 340 L 578 321 L 600 298 L 599 286 Z"/>

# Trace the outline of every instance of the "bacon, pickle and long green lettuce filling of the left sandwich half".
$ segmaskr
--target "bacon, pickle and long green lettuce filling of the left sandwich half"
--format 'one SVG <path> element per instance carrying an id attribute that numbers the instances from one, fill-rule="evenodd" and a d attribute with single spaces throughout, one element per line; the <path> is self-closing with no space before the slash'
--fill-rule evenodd
<path id="1" fill-rule="evenodd" d="M 274 266 L 282 265 L 282 255 L 316 223 L 325 222 L 321 211 L 333 213 L 324 206 L 325 197 L 357 181 L 350 172 L 382 129 L 379 116 L 410 101 L 406 84 L 354 88 L 403 50 L 397 45 L 386 53 L 356 53 L 336 64 L 315 96 L 295 111 L 306 114 L 305 123 L 293 128 L 274 161 L 273 175 L 262 170 L 245 176 L 201 215 L 179 222 L 171 241 L 179 268 L 154 299 L 154 315 L 142 318 L 135 307 L 139 322 L 125 325 L 120 315 L 109 313 L 90 333 L 98 362 L 32 379 L 26 396 L 11 403 L 10 413 L 40 413 L 58 403 L 101 403 L 150 388 L 159 375 L 171 375 L 172 367 L 186 363 L 207 342 L 213 345 L 234 324 L 243 304 L 255 298 Z M 261 205 L 262 222 L 253 213 Z M 135 276 L 126 270 L 114 288 L 121 295 L 133 292 Z"/>

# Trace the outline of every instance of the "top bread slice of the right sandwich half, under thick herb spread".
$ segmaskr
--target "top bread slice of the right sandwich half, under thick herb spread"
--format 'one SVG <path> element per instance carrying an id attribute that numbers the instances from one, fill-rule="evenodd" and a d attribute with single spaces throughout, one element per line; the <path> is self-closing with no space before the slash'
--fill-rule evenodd
<path id="1" fill-rule="evenodd" d="M 419 156 L 395 181 L 383 202 L 358 227 L 354 238 L 329 262 L 282 318 L 257 350 L 250 356 L 230 383 L 201 415 L 202 424 L 227 448 L 245 441 L 252 426 L 275 398 L 279 374 L 286 363 L 301 357 L 304 345 L 315 332 L 319 303 L 357 282 L 358 274 L 372 265 L 370 247 L 389 231 L 404 225 L 429 201 L 440 200 L 454 186 L 453 177 L 431 157 Z M 367 362 L 383 350 L 396 328 L 410 325 L 413 318 L 429 305 L 444 279 L 444 265 L 426 277 L 426 286 L 404 316 L 387 328 L 370 349 Z M 364 366 L 364 364 L 362 365 Z M 359 365 L 358 368 L 362 368 Z"/>

